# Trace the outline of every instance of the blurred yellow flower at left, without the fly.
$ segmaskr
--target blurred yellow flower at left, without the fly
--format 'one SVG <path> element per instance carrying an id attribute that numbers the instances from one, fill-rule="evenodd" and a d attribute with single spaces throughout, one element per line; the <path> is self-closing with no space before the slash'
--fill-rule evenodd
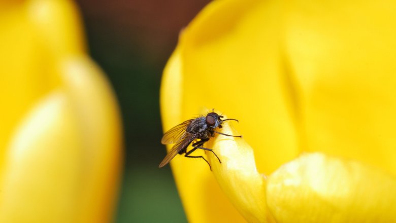
<path id="1" fill-rule="evenodd" d="M 119 110 L 71 1 L 0 3 L 0 222 L 107 222 Z"/>

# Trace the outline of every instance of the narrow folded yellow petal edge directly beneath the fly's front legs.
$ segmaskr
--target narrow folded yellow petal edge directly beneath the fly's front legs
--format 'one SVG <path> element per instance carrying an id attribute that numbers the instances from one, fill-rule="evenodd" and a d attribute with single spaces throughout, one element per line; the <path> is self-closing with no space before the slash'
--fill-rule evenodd
<path id="1" fill-rule="evenodd" d="M 223 124 L 221 132 L 239 135 L 230 122 Z M 248 222 L 275 222 L 267 207 L 266 176 L 257 171 L 250 145 L 243 138 L 218 135 L 207 147 L 221 161 L 206 152 L 217 182 L 244 218 Z"/>

